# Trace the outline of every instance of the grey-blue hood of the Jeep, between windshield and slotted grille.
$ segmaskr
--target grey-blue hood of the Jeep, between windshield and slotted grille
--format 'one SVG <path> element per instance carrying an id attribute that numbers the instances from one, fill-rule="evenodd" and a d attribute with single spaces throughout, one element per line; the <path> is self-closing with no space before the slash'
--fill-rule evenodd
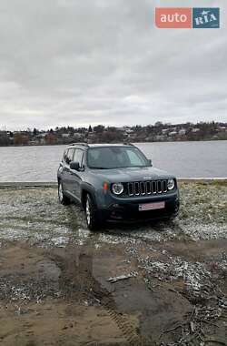
<path id="1" fill-rule="evenodd" d="M 158 178 L 174 178 L 164 170 L 146 168 L 115 168 L 115 169 L 91 169 L 95 176 L 102 177 L 110 182 L 129 182 L 153 180 Z"/>

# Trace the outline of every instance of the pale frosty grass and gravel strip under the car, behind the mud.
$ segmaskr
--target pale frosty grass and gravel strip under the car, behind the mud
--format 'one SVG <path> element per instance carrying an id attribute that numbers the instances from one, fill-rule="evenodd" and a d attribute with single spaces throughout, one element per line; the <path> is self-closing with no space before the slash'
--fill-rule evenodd
<path id="1" fill-rule="evenodd" d="M 55 188 L 1 189 L 0 220 L 0 241 L 26 239 L 48 247 L 81 243 L 93 237 L 85 228 L 81 209 L 59 205 Z M 136 239 L 156 241 L 227 239 L 226 224 L 226 182 L 182 183 L 177 219 L 154 225 L 107 227 L 97 240 L 122 242 L 122 232 Z"/>

